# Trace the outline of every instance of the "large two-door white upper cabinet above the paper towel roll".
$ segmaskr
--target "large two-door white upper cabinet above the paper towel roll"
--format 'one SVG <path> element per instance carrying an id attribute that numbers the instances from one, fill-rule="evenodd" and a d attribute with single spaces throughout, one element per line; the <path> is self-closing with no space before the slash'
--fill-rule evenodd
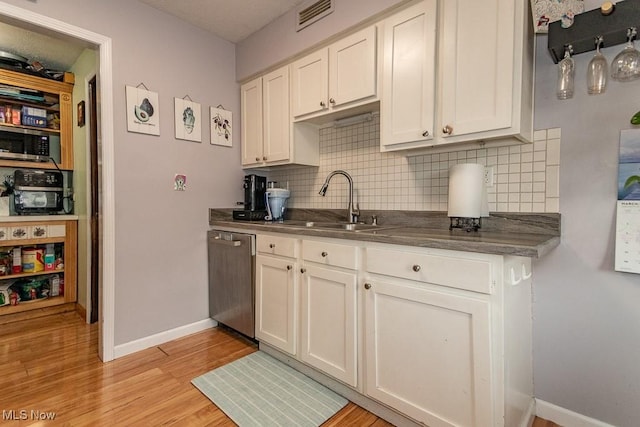
<path id="1" fill-rule="evenodd" d="M 514 136 L 531 141 L 534 38 L 527 7 L 525 1 L 438 2 L 437 54 L 434 39 L 426 37 L 432 34 L 435 0 L 424 0 L 387 18 L 383 22 L 382 151 Z M 420 56 L 403 56 L 408 52 L 403 46 L 412 43 L 422 47 L 419 52 L 414 48 Z M 403 72 L 405 64 L 415 67 L 413 75 Z M 435 94 L 426 89 L 433 81 L 431 72 L 435 73 Z M 412 83 L 405 81 L 408 78 Z M 433 120 L 431 131 L 423 123 Z M 429 134 L 416 137 L 420 126 Z"/>

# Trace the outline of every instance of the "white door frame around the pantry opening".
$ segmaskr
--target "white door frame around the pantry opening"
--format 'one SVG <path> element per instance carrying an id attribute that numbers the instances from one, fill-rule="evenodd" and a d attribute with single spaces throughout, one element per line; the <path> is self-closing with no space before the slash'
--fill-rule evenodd
<path id="1" fill-rule="evenodd" d="M 57 19 L 0 2 L 0 17 L 53 30 L 95 45 L 99 51 L 98 72 L 99 128 L 102 157 L 102 277 L 100 290 L 98 354 L 103 362 L 114 359 L 115 317 L 115 174 L 113 121 L 113 64 L 111 38 Z"/>

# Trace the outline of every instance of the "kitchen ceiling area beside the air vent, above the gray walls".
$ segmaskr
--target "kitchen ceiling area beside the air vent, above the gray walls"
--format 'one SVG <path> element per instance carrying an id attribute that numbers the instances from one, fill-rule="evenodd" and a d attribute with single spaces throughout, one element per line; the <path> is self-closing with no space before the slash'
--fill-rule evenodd
<path id="1" fill-rule="evenodd" d="M 140 1 L 237 43 L 305 0 Z"/>

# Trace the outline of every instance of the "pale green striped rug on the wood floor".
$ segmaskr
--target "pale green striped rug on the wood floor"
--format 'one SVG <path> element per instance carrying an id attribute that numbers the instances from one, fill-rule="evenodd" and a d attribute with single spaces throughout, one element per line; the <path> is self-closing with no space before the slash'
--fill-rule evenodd
<path id="1" fill-rule="evenodd" d="M 240 427 L 319 426 L 347 400 L 257 351 L 191 383 Z"/>

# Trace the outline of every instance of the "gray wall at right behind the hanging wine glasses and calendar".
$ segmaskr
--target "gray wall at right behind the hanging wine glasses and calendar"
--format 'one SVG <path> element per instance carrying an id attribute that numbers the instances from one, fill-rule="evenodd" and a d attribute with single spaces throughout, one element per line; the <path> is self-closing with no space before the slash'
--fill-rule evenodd
<path id="1" fill-rule="evenodd" d="M 604 94 L 587 95 L 593 52 L 584 53 L 574 58 L 573 99 L 559 101 L 547 37 L 538 36 L 537 42 L 535 127 L 562 128 L 562 244 L 534 266 L 536 396 L 635 427 L 640 423 L 640 276 L 613 267 L 619 137 L 633 128 L 629 119 L 640 110 L 640 81 L 609 81 Z M 609 63 L 622 47 L 603 50 Z"/>

